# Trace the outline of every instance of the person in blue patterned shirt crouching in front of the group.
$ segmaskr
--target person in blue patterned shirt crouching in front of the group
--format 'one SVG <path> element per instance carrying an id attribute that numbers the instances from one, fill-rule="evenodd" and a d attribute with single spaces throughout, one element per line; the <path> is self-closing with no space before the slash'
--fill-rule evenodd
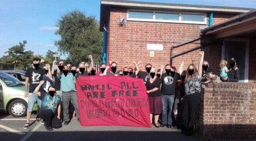
<path id="1" fill-rule="evenodd" d="M 44 120 L 45 129 L 52 131 L 52 127 L 58 129 L 62 127 L 60 122 L 56 122 L 56 110 L 60 106 L 61 98 L 56 94 L 55 88 L 50 86 L 48 88 L 48 93 L 39 92 L 40 87 L 44 84 L 44 81 L 40 81 L 40 84 L 35 88 L 34 93 L 41 97 L 42 105 L 39 111 L 39 117 Z M 58 120 L 58 119 L 57 119 Z"/>

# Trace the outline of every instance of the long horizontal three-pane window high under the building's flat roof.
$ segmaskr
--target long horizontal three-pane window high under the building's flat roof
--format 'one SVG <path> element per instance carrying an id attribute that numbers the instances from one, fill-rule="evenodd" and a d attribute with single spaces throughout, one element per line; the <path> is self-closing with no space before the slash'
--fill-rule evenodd
<path id="1" fill-rule="evenodd" d="M 149 10 L 127 10 L 127 20 L 206 24 L 206 14 Z"/>

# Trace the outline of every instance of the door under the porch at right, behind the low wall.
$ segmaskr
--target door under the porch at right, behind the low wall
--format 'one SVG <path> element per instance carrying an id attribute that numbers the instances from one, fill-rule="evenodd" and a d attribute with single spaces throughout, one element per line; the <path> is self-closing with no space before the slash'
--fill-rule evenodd
<path id="1" fill-rule="evenodd" d="M 249 61 L 249 41 L 246 39 L 226 39 L 222 47 L 222 59 L 228 61 L 234 57 L 239 68 L 239 82 L 248 82 L 248 61 Z"/>

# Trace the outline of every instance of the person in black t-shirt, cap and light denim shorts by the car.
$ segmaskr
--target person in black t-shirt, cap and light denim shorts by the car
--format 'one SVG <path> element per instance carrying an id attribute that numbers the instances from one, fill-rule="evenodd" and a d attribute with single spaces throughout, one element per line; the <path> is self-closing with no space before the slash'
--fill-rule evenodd
<path id="1" fill-rule="evenodd" d="M 29 119 L 31 117 L 31 112 L 33 110 L 35 101 L 38 102 L 38 105 L 41 107 L 41 100 L 38 98 L 38 95 L 34 94 L 35 88 L 40 84 L 43 76 L 45 75 L 45 70 L 40 68 L 40 61 L 39 57 L 34 57 L 33 59 L 33 67 L 28 68 L 25 76 L 25 97 L 28 97 L 28 107 L 27 107 L 27 121 L 23 129 L 27 129 L 29 127 Z M 28 91 L 28 84 L 29 84 L 29 91 Z M 42 88 L 40 89 L 42 90 Z"/>

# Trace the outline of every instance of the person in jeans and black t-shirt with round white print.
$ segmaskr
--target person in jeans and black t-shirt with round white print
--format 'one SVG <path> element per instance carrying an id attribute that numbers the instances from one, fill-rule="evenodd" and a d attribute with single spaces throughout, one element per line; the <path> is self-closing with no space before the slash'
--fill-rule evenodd
<path id="1" fill-rule="evenodd" d="M 167 64 L 165 67 L 166 73 L 161 76 L 162 86 L 162 124 L 161 127 L 172 127 L 172 108 L 175 99 L 176 81 L 180 79 L 180 75 L 176 73 L 176 68 Z M 168 111 L 167 111 L 168 110 Z"/>

